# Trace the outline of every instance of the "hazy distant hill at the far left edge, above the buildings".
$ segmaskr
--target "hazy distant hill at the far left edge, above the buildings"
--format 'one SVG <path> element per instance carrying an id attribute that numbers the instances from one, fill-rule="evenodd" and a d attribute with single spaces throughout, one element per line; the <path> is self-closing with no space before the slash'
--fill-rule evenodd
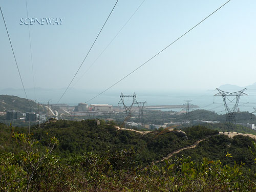
<path id="1" fill-rule="evenodd" d="M 16 110 L 20 112 L 37 112 L 38 104 L 33 100 L 27 100 L 12 95 L 0 95 L 0 112 Z"/>

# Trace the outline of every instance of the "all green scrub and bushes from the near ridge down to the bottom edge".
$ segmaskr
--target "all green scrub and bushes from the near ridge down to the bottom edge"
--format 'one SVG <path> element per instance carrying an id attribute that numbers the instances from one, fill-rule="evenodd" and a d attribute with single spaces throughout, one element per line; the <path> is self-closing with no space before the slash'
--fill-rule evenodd
<path id="1" fill-rule="evenodd" d="M 144 135 L 96 120 L 46 123 L 31 127 L 32 135 L 27 127 L 0 128 L 1 191 L 256 190 L 252 140 L 203 126 Z"/>

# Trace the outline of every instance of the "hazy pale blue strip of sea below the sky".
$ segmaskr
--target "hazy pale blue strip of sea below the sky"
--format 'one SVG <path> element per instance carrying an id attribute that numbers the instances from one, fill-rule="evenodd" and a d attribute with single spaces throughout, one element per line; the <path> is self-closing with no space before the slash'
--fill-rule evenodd
<path id="1" fill-rule="evenodd" d="M 40 103 L 47 103 L 50 99 L 49 103 L 56 103 L 59 99 L 59 96 L 63 92 L 62 89 L 59 90 L 50 90 L 50 89 L 36 89 L 36 100 L 34 98 L 34 90 L 28 89 L 28 97 L 29 99 L 35 100 Z M 15 89 L 5 89 L 0 92 L 1 94 L 7 95 L 15 95 L 18 97 L 25 98 L 24 92 L 22 90 Z M 99 92 L 96 91 L 87 91 L 87 90 L 70 90 L 67 92 L 65 97 L 60 101 L 60 103 L 67 103 L 71 106 L 77 105 L 80 102 L 87 102 L 94 96 L 96 96 Z M 123 92 L 123 94 L 133 94 L 134 92 Z M 199 92 L 154 92 L 154 91 L 135 91 L 136 100 L 138 102 L 147 101 L 147 105 L 182 105 L 185 104 L 185 100 L 191 100 L 190 103 L 194 105 L 198 105 L 199 109 L 215 111 L 218 114 L 225 113 L 225 108 L 223 105 L 223 99 L 221 96 L 215 96 L 214 94 L 218 93 L 217 90 L 209 90 L 209 91 L 199 91 Z M 253 112 L 253 107 L 256 108 L 256 94 L 255 90 L 246 90 L 246 93 L 249 95 L 249 103 L 247 103 L 247 96 L 241 96 L 238 108 L 240 111 L 248 111 Z M 120 100 L 121 92 L 106 92 L 99 97 L 88 102 L 88 104 L 112 104 L 114 106 L 118 105 Z M 234 99 L 234 97 L 230 97 Z M 132 102 L 132 98 L 125 98 L 125 103 L 129 105 Z M 227 101 L 229 108 L 232 108 L 233 104 L 236 101 L 232 102 Z M 120 105 L 120 104 L 119 104 Z M 121 106 L 121 105 L 120 105 Z M 184 108 L 186 106 L 184 105 Z M 162 109 L 163 111 L 181 111 L 181 109 Z"/>

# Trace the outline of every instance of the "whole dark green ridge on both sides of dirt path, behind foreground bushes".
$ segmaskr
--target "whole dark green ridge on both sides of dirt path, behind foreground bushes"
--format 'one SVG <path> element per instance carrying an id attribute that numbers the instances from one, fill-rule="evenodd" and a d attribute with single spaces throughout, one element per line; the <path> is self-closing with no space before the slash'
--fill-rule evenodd
<path id="1" fill-rule="evenodd" d="M 100 120 L 98 121 L 100 124 L 97 124 L 97 121 L 59 120 L 41 124 L 40 129 L 38 129 L 38 126 L 32 126 L 31 132 L 34 139 L 40 141 L 42 145 L 46 143 L 48 137 L 56 137 L 59 140 L 59 145 L 55 148 L 54 153 L 62 158 L 81 155 L 84 152 L 104 153 L 106 150 L 120 151 L 126 149 L 135 152 L 136 162 L 147 164 L 160 160 L 180 148 L 193 145 L 203 139 L 197 147 L 188 150 L 189 153 L 184 151 L 181 154 L 191 155 L 195 160 L 208 157 L 226 162 L 226 153 L 232 152 L 233 159 L 230 159 L 229 163 L 232 164 L 232 161 L 235 160 L 252 165 L 253 159 L 251 159 L 252 156 L 248 148 L 248 146 L 252 146 L 252 139 L 244 136 L 228 138 L 219 135 L 216 130 L 207 129 L 201 125 L 187 127 L 182 130 L 183 132 L 159 129 L 141 134 L 134 131 L 117 130 L 114 122 Z M 2 143 L 0 145 L 5 148 L 9 147 L 11 150 L 14 146 L 13 143 L 11 144 L 12 139 L 9 138 L 12 130 L 4 124 L 1 124 L 0 127 L 2 127 Z M 27 127 L 13 127 L 13 129 L 18 132 L 28 132 Z M 6 142 L 8 140 L 10 141 L 9 144 Z M 204 144 L 202 145 L 202 143 Z M 246 157 L 242 157 L 243 154 Z M 248 159 L 250 161 L 247 162 Z"/>

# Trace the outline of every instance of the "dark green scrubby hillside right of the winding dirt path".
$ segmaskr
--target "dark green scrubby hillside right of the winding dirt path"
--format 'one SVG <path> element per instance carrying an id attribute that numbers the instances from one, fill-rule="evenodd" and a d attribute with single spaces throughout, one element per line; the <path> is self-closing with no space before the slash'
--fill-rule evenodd
<path id="1" fill-rule="evenodd" d="M 195 162 L 200 162 L 203 158 L 208 158 L 211 160 L 221 160 L 222 163 L 230 165 L 234 165 L 234 162 L 238 164 L 245 163 L 244 166 L 251 169 L 250 174 L 255 174 L 255 157 L 249 150 L 249 147 L 253 147 L 252 141 L 255 140 L 241 135 L 233 138 L 229 138 L 226 135 L 218 135 L 207 138 L 200 142 L 197 147 L 184 150 L 176 156 L 190 156 L 191 160 Z M 227 158 L 227 153 L 231 154 L 232 157 Z"/>

